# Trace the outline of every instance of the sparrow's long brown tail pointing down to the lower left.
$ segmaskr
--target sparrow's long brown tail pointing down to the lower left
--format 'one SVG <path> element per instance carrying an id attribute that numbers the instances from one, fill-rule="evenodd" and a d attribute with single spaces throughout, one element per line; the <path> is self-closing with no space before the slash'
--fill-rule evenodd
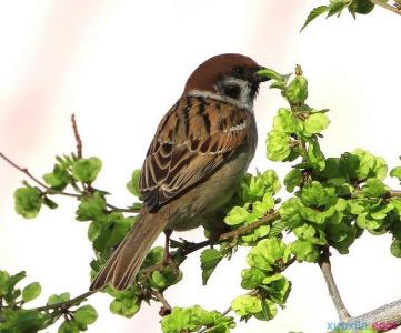
<path id="1" fill-rule="evenodd" d="M 137 223 L 93 280 L 91 291 L 101 290 L 109 283 L 122 291 L 132 283 L 149 249 L 166 226 L 162 219 L 154 218 L 157 216 L 147 212 L 140 214 Z"/>

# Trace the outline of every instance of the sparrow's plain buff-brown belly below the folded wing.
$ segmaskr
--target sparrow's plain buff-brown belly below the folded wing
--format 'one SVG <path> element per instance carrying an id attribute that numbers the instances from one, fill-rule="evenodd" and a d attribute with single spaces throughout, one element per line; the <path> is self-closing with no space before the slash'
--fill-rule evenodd
<path id="1" fill-rule="evenodd" d="M 248 151 L 239 152 L 205 181 L 189 190 L 174 204 L 171 204 L 172 211 L 170 211 L 167 229 L 190 230 L 205 222 L 205 214 L 218 210 L 232 198 L 250 160 Z M 183 206 L 180 202 L 187 204 Z"/>

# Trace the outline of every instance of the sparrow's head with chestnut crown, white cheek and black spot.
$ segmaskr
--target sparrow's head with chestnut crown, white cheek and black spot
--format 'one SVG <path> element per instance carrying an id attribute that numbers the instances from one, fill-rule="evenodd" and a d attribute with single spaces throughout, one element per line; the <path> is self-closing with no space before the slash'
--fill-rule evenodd
<path id="1" fill-rule="evenodd" d="M 264 69 L 249 57 L 227 53 L 201 63 L 189 77 L 183 94 L 220 99 L 252 109 L 259 84 L 268 78 L 259 75 Z"/>

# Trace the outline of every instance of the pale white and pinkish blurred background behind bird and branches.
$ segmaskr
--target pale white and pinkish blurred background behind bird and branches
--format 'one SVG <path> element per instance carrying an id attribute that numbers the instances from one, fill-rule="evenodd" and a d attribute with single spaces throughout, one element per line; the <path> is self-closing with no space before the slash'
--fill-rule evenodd
<path id="1" fill-rule="evenodd" d="M 113 194 L 112 203 L 129 204 L 124 184 L 186 78 L 211 56 L 239 52 L 281 72 L 302 64 L 310 104 L 332 110 L 327 155 L 363 147 L 394 167 L 401 154 L 401 18 L 377 8 L 357 21 L 348 14 L 318 19 L 300 34 L 309 11 L 324 2 L 0 1 L 0 151 L 39 176 L 49 172 L 56 154 L 74 150 L 74 112 L 84 154 L 103 160 L 98 186 Z M 288 170 L 264 153 L 272 114 L 282 104 L 277 91 L 261 91 L 255 104 L 260 144 L 251 171 L 274 168 L 283 175 Z M 58 210 L 43 209 L 36 220 L 18 216 L 12 192 L 22 179 L 0 161 L 0 269 L 26 270 L 29 282 L 41 282 L 43 296 L 32 306 L 52 293 L 76 296 L 89 285 L 88 224 L 74 221 L 76 202 L 64 198 L 57 198 Z M 201 240 L 202 233 L 184 236 Z M 390 255 L 390 236 L 367 234 L 350 255 L 333 255 L 351 314 L 401 297 L 401 261 Z M 182 266 L 184 280 L 167 292 L 168 300 L 176 306 L 224 310 L 242 293 L 247 252 L 221 263 L 205 287 L 198 254 L 191 255 Z M 241 323 L 235 332 L 324 332 L 328 322 L 338 321 L 317 265 L 295 264 L 285 275 L 293 283 L 287 309 L 271 322 Z M 99 319 L 89 332 L 160 331 L 159 305 L 143 305 L 127 320 L 111 314 L 109 302 L 108 295 L 90 299 Z M 56 331 L 57 325 L 47 330 Z"/>

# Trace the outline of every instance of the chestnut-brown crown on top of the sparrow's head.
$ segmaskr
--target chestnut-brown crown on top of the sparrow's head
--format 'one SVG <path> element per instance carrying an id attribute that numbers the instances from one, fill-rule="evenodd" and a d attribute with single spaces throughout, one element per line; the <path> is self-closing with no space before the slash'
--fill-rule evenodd
<path id="1" fill-rule="evenodd" d="M 227 53 L 212 57 L 201 63 L 188 78 L 183 93 L 191 90 L 211 91 L 215 92 L 214 85 L 225 74 L 232 72 L 235 67 L 245 69 L 259 69 L 259 64 L 251 58 L 237 54 Z"/>

